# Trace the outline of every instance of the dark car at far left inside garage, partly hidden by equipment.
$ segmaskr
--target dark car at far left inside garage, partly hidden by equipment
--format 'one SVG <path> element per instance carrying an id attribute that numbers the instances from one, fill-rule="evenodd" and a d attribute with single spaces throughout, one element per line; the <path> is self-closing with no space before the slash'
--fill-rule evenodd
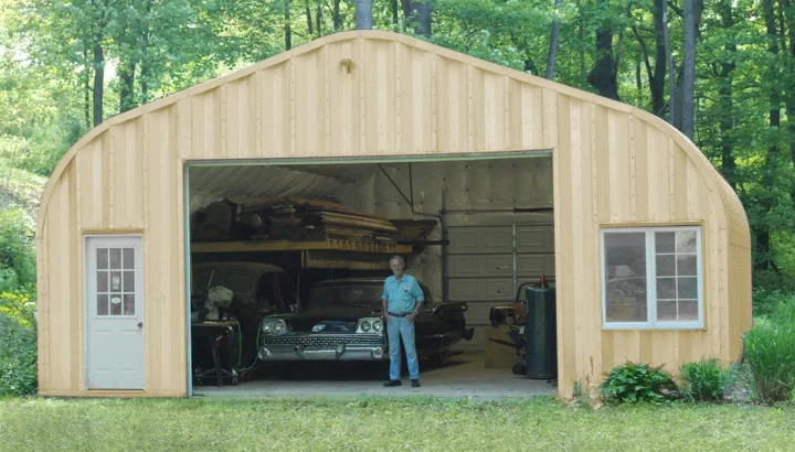
<path id="1" fill-rule="evenodd" d="M 208 291 L 214 287 L 233 293 L 232 302 L 220 312 L 219 319 L 203 312 Z M 256 342 L 262 320 L 288 312 L 290 305 L 297 303 L 289 275 L 267 263 L 194 263 L 191 288 L 191 355 L 194 378 L 199 381 L 204 379 L 200 377 L 204 370 L 215 368 L 220 360 L 223 375 L 236 383 L 240 368 L 257 363 Z"/>

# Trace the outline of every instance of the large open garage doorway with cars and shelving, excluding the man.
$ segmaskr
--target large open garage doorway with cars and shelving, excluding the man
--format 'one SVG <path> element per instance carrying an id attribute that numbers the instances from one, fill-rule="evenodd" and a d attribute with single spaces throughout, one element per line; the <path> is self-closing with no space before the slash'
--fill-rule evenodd
<path id="1" fill-rule="evenodd" d="M 427 301 L 422 394 L 554 394 L 550 151 L 186 171 L 193 395 L 394 392 L 393 256 Z"/>

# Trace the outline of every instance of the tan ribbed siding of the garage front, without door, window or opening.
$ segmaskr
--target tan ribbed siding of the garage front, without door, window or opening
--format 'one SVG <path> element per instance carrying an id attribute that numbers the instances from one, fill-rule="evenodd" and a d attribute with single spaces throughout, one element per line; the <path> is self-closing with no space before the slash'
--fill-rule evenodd
<path id="1" fill-rule="evenodd" d="M 186 392 L 187 160 L 527 149 L 554 150 L 562 395 L 624 359 L 670 367 L 738 357 L 751 321 L 748 220 L 692 143 L 627 105 L 371 31 L 327 36 L 119 115 L 73 147 L 38 222 L 41 392 L 86 395 L 83 235 L 130 230 L 145 240 L 146 390 L 126 395 Z M 603 331 L 600 227 L 688 220 L 703 225 L 706 331 Z"/>

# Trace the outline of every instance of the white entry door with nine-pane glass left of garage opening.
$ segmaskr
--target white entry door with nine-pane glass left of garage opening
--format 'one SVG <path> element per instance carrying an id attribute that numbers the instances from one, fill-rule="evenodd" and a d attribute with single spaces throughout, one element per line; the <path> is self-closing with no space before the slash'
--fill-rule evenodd
<path id="1" fill-rule="evenodd" d="M 86 237 L 86 387 L 144 389 L 140 236 Z"/>

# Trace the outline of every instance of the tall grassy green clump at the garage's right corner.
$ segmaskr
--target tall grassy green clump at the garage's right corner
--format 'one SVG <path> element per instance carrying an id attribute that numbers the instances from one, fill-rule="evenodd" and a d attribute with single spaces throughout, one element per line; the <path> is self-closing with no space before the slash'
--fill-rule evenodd
<path id="1" fill-rule="evenodd" d="M 764 402 L 795 397 L 795 299 L 786 298 L 770 319 L 757 318 L 745 335 L 745 356 L 756 396 Z"/>

